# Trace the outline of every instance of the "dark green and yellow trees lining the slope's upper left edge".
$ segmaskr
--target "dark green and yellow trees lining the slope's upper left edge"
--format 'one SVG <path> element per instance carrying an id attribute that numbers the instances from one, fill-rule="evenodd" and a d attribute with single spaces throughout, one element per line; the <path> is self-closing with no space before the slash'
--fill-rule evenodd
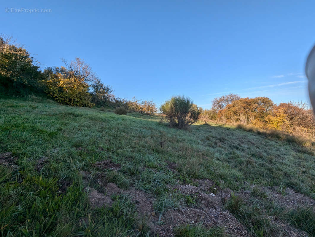
<path id="1" fill-rule="evenodd" d="M 132 100 L 115 97 L 113 89 L 83 59 L 61 59 L 60 67 L 46 67 L 16 44 L 12 37 L 0 37 L 0 85 L 2 93 L 23 96 L 30 92 L 47 94 L 60 104 L 83 107 L 120 108 L 137 111 L 141 115 L 157 111 L 152 100 Z"/>

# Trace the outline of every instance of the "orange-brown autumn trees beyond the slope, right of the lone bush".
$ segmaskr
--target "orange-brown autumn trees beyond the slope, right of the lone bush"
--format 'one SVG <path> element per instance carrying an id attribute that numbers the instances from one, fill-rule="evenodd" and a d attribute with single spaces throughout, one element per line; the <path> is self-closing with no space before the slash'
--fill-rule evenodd
<path id="1" fill-rule="evenodd" d="M 240 123 L 262 129 L 314 138 L 315 120 L 311 108 L 303 102 L 275 104 L 267 97 L 240 98 L 228 94 L 212 100 L 212 108 L 204 110 L 200 119 L 223 123 Z"/>

